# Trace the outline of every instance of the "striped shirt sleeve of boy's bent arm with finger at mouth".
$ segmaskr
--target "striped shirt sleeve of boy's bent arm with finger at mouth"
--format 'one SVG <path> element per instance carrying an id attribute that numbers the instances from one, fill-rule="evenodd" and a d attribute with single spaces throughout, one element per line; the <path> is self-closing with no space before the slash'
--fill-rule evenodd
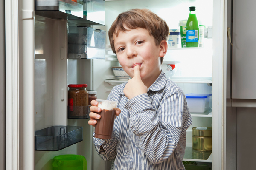
<path id="1" fill-rule="evenodd" d="M 175 150 L 188 113 L 186 98 L 181 91 L 163 96 L 157 111 L 148 94 L 132 98 L 125 108 L 130 114 L 131 130 L 136 135 L 136 144 L 149 161 L 159 164 Z"/>

